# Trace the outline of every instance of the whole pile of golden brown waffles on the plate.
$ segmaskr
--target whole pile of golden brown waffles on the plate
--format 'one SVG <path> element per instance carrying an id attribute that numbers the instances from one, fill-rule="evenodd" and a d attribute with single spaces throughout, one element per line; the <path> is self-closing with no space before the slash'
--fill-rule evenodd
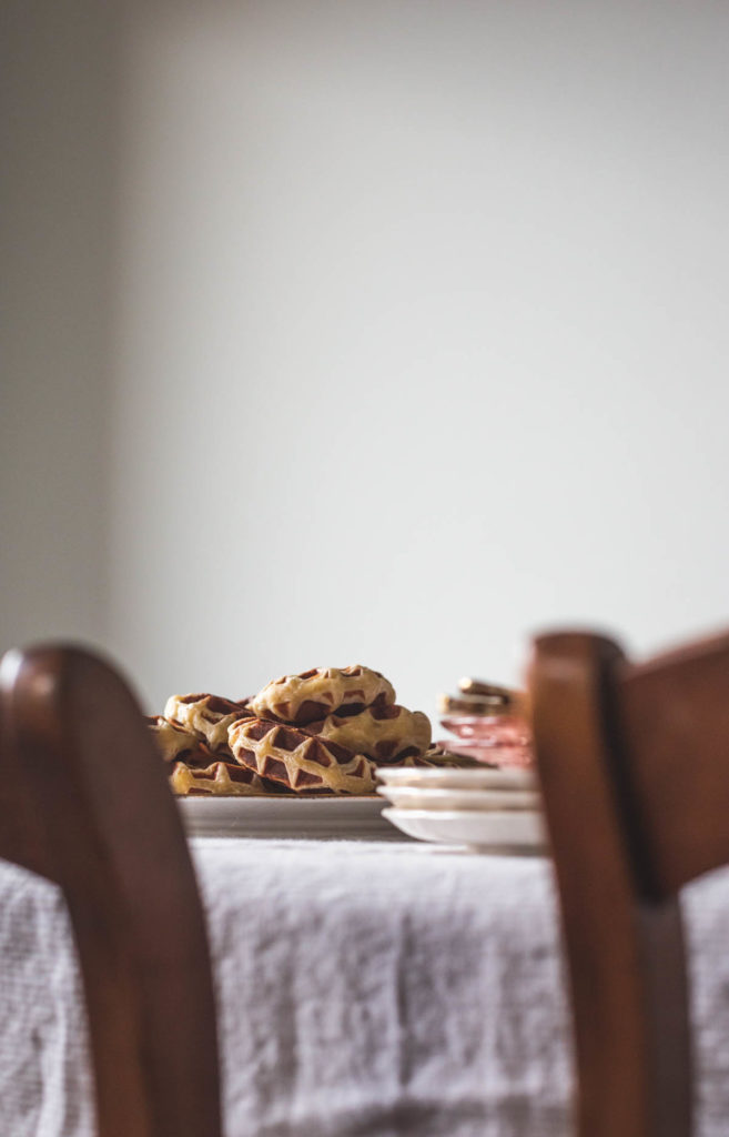
<path id="1" fill-rule="evenodd" d="M 174 695 L 149 720 L 175 794 L 374 794 L 376 770 L 471 764 L 431 745 L 428 716 L 361 665 L 312 669 L 252 698 Z"/>

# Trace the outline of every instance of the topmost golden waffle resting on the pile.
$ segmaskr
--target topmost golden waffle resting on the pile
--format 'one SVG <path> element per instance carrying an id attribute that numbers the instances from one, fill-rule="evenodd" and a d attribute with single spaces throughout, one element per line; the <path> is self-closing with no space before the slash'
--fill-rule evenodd
<path id="1" fill-rule="evenodd" d="M 395 691 L 378 671 L 360 665 L 313 667 L 300 675 L 283 675 L 268 683 L 251 708 L 260 719 L 303 727 L 336 712 L 341 717 L 360 714 L 374 703 L 395 702 Z"/>

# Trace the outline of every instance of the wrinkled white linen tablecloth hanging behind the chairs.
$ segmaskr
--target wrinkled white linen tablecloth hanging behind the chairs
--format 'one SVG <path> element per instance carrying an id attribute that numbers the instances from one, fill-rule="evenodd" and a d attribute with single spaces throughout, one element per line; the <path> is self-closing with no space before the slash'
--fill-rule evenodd
<path id="1" fill-rule="evenodd" d="M 227 1137 L 563 1137 L 550 865 L 416 844 L 199 840 Z M 729 1117 L 729 875 L 687 890 L 699 1132 Z M 57 890 L 0 862 L 0 1134 L 93 1132 Z"/>

